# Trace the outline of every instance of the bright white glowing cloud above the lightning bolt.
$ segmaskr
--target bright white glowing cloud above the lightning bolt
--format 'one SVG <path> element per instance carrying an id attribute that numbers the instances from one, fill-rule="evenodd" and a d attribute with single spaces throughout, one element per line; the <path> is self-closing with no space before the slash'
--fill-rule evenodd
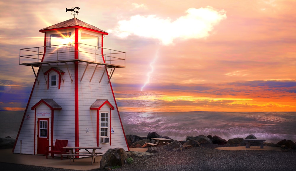
<path id="1" fill-rule="evenodd" d="M 224 10 L 217 11 L 213 7 L 189 8 L 186 15 L 175 21 L 169 17 L 162 19 L 156 15 L 134 15 L 129 20 L 121 20 L 109 33 L 125 38 L 137 35 L 158 39 L 163 45 L 173 44 L 176 38 L 205 38 L 221 20 L 226 19 Z"/>

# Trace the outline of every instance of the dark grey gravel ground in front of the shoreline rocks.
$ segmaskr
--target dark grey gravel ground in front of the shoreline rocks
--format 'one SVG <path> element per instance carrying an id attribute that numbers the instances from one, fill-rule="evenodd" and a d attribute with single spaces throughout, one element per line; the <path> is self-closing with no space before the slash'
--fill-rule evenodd
<path id="1" fill-rule="evenodd" d="M 134 159 L 132 164 L 125 164 L 115 171 L 165 171 L 165 170 L 296 170 L 296 150 L 286 151 L 226 151 L 204 146 L 185 149 L 180 152 L 160 151 L 152 157 Z M 8 170 L 48 170 L 73 171 L 52 167 L 29 166 L 0 163 L 1 171 Z"/>

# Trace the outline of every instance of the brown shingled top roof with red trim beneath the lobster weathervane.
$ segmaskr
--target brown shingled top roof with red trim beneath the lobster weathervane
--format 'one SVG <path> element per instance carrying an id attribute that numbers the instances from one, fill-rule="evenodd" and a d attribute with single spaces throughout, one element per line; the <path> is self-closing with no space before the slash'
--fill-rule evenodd
<path id="1" fill-rule="evenodd" d="M 96 30 L 96 31 L 102 32 L 104 34 L 108 34 L 104 30 L 96 28 L 95 26 L 87 24 L 86 22 L 78 20 L 77 18 L 72 18 L 70 20 L 57 23 L 55 25 L 43 28 L 43 29 L 41 29 L 39 31 L 40 32 L 46 32 L 48 30 L 54 30 L 54 29 L 59 29 L 59 28 L 68 28 L 68 27 L 74 27 L 74 26 L 80 26 L 80 27 L 83 27 L 83 28 L 88 28 L 88 29 L 91 29 L 91 30 Z"/>

